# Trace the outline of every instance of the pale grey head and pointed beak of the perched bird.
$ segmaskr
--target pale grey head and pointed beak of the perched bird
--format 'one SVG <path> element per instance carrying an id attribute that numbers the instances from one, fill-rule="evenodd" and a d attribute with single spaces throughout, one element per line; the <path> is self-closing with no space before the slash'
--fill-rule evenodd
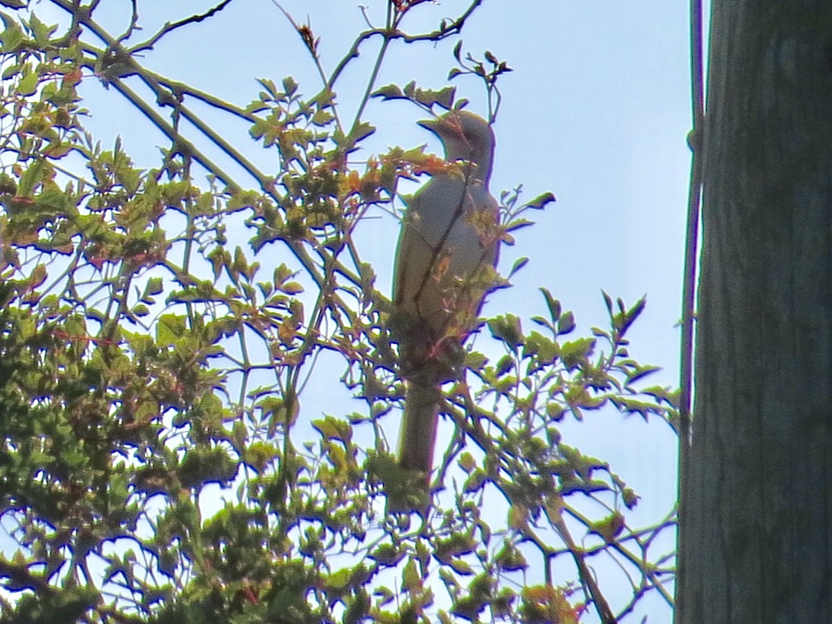
<path id="1" fill-rule="evenodd" d="M 494 160 L 494 132 L 488 121 L 468 111 L 449 111 L 437 119 L 419 121 L 419 126 L 433 132 L 445 147 L 445 160 L 472 161 L 473 174 L 488 181 Z"/>

